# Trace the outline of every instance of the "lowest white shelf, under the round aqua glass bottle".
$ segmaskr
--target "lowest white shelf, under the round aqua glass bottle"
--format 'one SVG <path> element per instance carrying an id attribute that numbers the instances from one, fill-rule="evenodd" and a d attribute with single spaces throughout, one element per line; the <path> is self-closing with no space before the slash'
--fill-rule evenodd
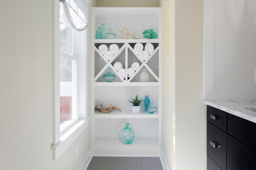
<path id="1" fill-rule="evenodd" d="M 95 138 L 95 145 L 98 146 L 115 146 L 115 147 L 152 147 L 152 146 L 159 146 L 159 141 L 157 138 L 137 138 L 135 136 L 134 141 L 132 144 L 124 145 L 122 142 L 119 141 L 118 137 L 96 137 Z"/>

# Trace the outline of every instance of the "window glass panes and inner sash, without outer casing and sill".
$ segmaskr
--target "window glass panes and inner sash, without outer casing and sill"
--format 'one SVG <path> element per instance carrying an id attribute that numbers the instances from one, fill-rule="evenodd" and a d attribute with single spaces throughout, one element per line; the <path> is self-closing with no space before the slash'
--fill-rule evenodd
<path id="1" fill-rule="evenodd" d="M 65 23 L 60 6 L 60 133 L 78 119 L 79 33 Z"/>

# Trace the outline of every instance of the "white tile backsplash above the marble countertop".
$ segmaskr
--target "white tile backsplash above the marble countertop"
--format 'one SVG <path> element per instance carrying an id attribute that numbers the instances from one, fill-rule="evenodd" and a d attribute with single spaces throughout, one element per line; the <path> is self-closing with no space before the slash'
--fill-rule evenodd
<path id="1" fill-rule="evenodd" d="M 214 7 L 214 100 L 256 101 L 256 1 Z"/>

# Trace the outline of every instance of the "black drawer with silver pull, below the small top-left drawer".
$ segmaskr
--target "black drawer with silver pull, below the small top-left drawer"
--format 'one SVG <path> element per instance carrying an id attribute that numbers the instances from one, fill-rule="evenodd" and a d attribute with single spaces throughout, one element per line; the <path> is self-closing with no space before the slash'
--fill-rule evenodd
<path id="1" fill-rule="evenodd" d="M 207 154 L 220 166 L 226 169 L 226 144 L 227 134 L 207 123 Z"/>

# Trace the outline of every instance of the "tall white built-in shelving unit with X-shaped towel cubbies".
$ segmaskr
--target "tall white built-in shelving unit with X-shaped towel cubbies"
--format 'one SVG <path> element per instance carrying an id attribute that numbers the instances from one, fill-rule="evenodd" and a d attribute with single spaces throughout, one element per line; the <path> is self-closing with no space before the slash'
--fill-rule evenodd
<path id="1" fill-rule="evenodd" d="M 119 26 L 127 26 L 136 33 L 138 39 L 102 39 L 92 38 L 92 155 L 97 156 L 159 156 L 161 148 L 161 9 L 160 8 L 93 8 L 92 32 L 95 33 L 101 23 L 105 28 L 114 29 L 118 34 Z M 158 39 L 144 39 L 142 31 L 153 28 L 159 35 Z M 118 37 L 117 37 L 118 38 Z M 146 60 L 138 57 L 134 51 L 136 43 L 151 43 L 154 52 Z M 119 51 L 110 60 L 100 53 L 100 45 L 116 44 Z M 121 77 L 114 62 L 121 62 L 123 68 L 131 67 L 133 62 L 139 63 L 139 69 L 128 77 Z M 140 81 L 142 69 L 146 70 L 149 80 Z M 115 79 L 105 82 L 103 75 L 112 72 Z M 144 71 L 145 72 L 145 71 Z M 154 102 L 159 111 L 153 114 L 132 113 L 129 97 L 146 95 Z M 95 111 L 96 105 L 117 106 L 119 111 L 100 113 Z M 119 130 L 124 123 L 130 123 L 135 138 L 131 145 L 119 141 Z"/>

